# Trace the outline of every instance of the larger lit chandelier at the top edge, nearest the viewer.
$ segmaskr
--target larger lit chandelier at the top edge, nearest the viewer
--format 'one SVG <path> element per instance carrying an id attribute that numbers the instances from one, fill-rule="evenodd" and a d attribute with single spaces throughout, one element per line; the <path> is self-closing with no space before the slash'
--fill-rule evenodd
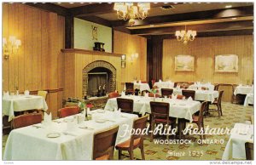
<path id="1" fill-rule="evenodd" d="M 114 3 L 119 20 L 129 20 L 129 25 L 134 26 L 135 20 L 144 20 L 148 16 L 150 3 Z"/>

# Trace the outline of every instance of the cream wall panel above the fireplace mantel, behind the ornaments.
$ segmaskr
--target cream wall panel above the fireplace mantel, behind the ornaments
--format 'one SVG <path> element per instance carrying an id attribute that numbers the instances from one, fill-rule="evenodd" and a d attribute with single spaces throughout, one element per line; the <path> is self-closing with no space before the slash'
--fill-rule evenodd
<path id="1" fill-rule="evenodd" d="M 97 26 L 97 41 L 92 40 L 91 26 Z M 106 52 L 112 52 L 112 29 L 90 21 L 74 18 L 74 48 L 93 50 L 94 43 L 105 43 Z"/>

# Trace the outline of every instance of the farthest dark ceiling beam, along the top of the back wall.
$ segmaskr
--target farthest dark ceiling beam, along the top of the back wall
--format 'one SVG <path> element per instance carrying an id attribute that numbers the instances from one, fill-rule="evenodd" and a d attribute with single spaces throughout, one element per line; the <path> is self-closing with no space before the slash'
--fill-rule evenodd
<path id="1" fill-rule="evenodd" d="M 246 29 L 246 30 L 232 30 L 232 31 L 204 31 L 198 32 L 195 37 L 222 37 L 222 36 L 242 36 L 242 35 L 253 35 L 253 29 Z M 164 35 L 147 35 L 142 36 L 148 39 L 152 37 L 160 37 L 161 39 L 176 39 L 173 34 L 164 34 Z"/>

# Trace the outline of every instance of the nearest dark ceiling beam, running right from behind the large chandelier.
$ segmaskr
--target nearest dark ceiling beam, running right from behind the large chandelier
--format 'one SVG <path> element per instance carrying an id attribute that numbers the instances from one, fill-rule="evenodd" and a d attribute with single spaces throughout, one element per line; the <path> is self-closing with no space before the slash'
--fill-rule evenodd
<path id="1" fill-rule="evenodd" d="M 195 21 L 195 20 L 212 20 L 232 17 L 253 15 L 253 6 L 238 7 L 233 9 L 214 9 L 184 14 L 169 14 L 154 17 L 148 17 L 144 20 L 136 20 L 136 26 L 156 25 L 172 22 Z M 112 26 L 129 26 L 128 20 L 113 20 Z"/>

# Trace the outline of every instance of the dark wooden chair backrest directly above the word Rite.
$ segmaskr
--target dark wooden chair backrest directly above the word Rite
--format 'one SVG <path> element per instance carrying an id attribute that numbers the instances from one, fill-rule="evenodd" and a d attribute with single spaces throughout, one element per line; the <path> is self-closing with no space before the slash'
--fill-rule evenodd
<path id="1" fill-rule="evenodd" d="M 169 103 L 150 101 L 152 120 L 154 119 L 169 119 Z"/>

